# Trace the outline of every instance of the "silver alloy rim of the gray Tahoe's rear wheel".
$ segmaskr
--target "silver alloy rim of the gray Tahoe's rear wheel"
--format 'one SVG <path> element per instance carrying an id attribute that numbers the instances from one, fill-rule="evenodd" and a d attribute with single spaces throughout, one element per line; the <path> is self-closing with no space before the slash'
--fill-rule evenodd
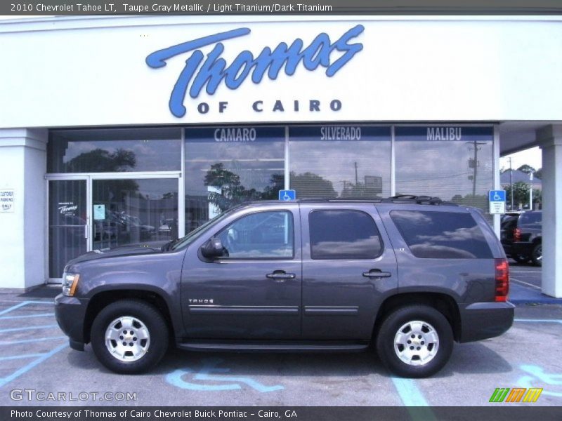
<path id="1" fill-rule="evenodd" d="M 439 335 L 425 321 L 409 321 L 394 336 L 394 352 L 409 366 L 424 366 L 437 354 Z"/>

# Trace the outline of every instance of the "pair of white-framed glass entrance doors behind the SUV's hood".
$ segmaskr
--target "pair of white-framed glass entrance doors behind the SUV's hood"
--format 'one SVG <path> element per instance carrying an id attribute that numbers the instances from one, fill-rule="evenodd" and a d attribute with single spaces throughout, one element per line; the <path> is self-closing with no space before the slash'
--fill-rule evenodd
<path id="1" fill-rule="evenodd" d="M 177 239 L 178 183 L 178 175 L 53 175 L 49 279 L 60 281 L 67 262 L 90 250 Z"/>

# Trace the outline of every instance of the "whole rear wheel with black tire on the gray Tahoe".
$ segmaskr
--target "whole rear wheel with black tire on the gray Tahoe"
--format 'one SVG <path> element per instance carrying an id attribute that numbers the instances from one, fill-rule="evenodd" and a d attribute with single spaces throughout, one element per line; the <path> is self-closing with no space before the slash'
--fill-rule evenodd
<path id="1" fill-rule="evenodd" d="M 412 339 L 410 334 L 413 330 L 408 331 L 407 327 L 402 330 L 402 328 L 414 321 L 421 321 L 422 323 L 421 325 L 414 323 L 414 326 L 421 327 L 421 332 L 419 332 L 420 335 L 414 335 L 415 338 Z M 398 356 L 398 353 L 400 353 L 404 358 L 407 357 L 408 349 L 405 349 L 403 345 L 396 345 L 395 350 L 395 339 L 399 330 L 402 330 L 405 339 L 410 340 L 407 347 L 413 349 L 412 353 L 422 349 L 421 352 L 417 353 L 417 359 L 415 355 L 412 356 L 410 363 L 406 363 Z M 437 341 L 431 339 L 435 338 L 435 334 L 437 335 Z M 421 338 L 418 338 L 418 336 Z M 437 373 L 449 361 L 453 345 L 452 328 L 445 316 L 436 309 L 426 305 L 409 305 L 400 307 L 385 317 L 377 333 L 376 344 L 379 358 L 391 373 L 401 377 L 428 377 Z M 423 355 L 424 352 L 431 355 L 433 350 L 435 352 L 431 359 L 427 356 L 428 361 L 422 362 L 419 355 Z"/>

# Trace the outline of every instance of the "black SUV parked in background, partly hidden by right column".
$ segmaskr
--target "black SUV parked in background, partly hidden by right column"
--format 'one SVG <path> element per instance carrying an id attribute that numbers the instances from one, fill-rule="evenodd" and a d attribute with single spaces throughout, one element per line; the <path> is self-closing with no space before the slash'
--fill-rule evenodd
<path id="1" fill-rule="evenodd" d="M 519 263 L 542 266 L 542 211 L 529 210 L 502 221 L 502 246 Z"/>

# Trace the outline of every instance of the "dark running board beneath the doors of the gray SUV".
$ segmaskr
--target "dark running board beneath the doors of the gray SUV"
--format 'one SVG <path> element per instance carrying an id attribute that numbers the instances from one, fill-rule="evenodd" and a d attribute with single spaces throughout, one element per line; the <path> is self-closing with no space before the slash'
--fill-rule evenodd
<path id="1" fill-rule="evenodd" d="M 361 352 L 369 347 L 368 343 L 271 343 L 271 342 L 180 342 L 176 347 L 186 351 L 209 352 Z"/>

